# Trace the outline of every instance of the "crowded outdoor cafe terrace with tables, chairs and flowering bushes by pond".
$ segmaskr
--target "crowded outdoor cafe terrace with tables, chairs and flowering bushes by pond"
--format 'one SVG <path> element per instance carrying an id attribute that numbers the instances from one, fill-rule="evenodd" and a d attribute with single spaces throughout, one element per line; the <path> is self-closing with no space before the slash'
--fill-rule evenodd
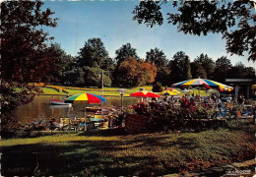
<path id="1" fill-rule="evenodd" d="M 169 130 L 204 130 L 225 126 L 226 121 L 252 119 L 255 121 L 255 103 L 244 104 L 232 97 L 221 99 L 218 93 L 209 96 L 162 95 L 147 98 L 131 106 L 87 107 L 86 118 L 62 117 L 49 122 L 25 126 L 23 136 L 48 131 L 91 131 L 124 128 L 128 133 Z"/>

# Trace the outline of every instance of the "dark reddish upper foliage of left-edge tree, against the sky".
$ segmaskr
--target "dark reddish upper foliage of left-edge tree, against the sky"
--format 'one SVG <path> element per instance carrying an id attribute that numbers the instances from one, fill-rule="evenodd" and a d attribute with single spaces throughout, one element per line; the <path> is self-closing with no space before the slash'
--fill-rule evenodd
<path id="1" fill-rule="evenodd" d="M 39 82 L 49 71 L 47 61 L 55 56 L 49 56 L 54 48 L 45 43 L 48 33 L 38 28 L 55 27 L 56 19 L 50 19 L 54 13 L 49 9 L 41 12 L 39 1 L 1 5 L 1 78 L 9 83 Z"/>

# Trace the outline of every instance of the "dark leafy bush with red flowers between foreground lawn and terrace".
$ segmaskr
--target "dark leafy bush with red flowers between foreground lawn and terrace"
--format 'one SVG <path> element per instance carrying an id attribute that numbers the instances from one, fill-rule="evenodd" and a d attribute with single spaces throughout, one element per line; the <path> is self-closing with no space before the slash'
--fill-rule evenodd
<path id="1" fill-rule="evenodd" d="M 148 118 L 146 126 L 153 132 L 185 129 L 200 131 L 224 126 L 224 121 L 214 119 L 216 113 L 204 106 L 191 109 L 190 107 L 175 108 L 170 104 L 160 105 L 157 102 L 149 104 L 140 102 L 133 105 L 133 109 L 138 115 Z"/>

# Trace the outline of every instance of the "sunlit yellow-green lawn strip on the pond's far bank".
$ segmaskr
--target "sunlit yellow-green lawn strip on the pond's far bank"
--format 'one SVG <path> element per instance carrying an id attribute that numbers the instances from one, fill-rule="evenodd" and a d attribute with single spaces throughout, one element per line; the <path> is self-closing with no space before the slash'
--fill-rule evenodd
<path id="1" fill-rule="evenodd" d="M 71 87 L 63 87 L 65 89 L 67 89 L 69 91 L 69 94 L 73 95 L 73 94 L 78 94 L 78 93 L 83 93 L 83 92 L 89 92 L 89 93 L 96 93 L 96 94 L 99 94 L 101 95 L 101 89 L 73 89 Z M 139 91 L 139 89 L 146 89 L 146 90 L 149 90 L 149 91 L 152 91 L 152 87 L 136 87 L 136 88 L 124 88 L 124 89 L 127 89 L 125 92 L 124 92 L 124 96 L 130 96 L 130 93 L 133 93 L 133 92 L 137 92 Z M 119 88 L 104 88 L 104 91 L 103 91 L 103 94 L 104 95 L 114 95 L 114 96 L 119 96 L 120 93 L 119 91 L 117 91 L 117 89 Z M 43 93 L 42 94 L 68 94 L 68 93 L 65 93 L 65 92 L 58 92 L 57 90 L 55 89 L 49 89 L 49 88 L 42 88 L 43 90 Z M 193 93 L 193 90 L 191 90 L 190 92 L 188 92 L 189 94 Z M 183 95 L 184 93 L 181 92 L 179 95 Z M 199 90 L 199 89 L 195 89 L 194 90 L 194 94 L 200 94 L 202 96 L 205 96 L 205 95 L 208 95 L 209 92 L 207 93 L 205 90 Z"/>

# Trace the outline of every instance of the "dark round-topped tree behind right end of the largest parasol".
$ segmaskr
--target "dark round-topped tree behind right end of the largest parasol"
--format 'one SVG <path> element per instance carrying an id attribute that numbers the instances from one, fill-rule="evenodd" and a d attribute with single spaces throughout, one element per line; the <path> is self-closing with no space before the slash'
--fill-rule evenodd
<path id="1" fill-rule="evenodd" d="M 215 62 L 214 80 L 224 83 L 227 71 L 232 67 L 231 62 L 226 57 L 222 56 Z"/>

